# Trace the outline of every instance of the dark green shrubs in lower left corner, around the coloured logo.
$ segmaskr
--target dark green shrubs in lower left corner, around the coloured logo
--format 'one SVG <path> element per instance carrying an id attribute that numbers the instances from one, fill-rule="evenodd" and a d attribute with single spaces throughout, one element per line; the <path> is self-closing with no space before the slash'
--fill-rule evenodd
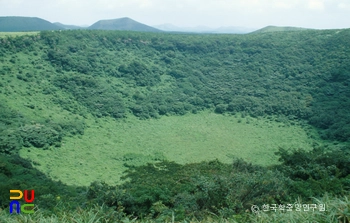
<path id="1" fill-rule="evenodd" d="M 0 154 L 0 208 L 9 205 L 10 190 L 35 190 L 37 208 L 54 211 L 62 199 L 68 207 L 78 207 L 85 200 L 79 196 L 84 188 L 71 187 L 54 182 L 45 174 L 32 167 L 32 164 L 18 155 Z M 59 199 L 57 199 L 59 197 Z"/>

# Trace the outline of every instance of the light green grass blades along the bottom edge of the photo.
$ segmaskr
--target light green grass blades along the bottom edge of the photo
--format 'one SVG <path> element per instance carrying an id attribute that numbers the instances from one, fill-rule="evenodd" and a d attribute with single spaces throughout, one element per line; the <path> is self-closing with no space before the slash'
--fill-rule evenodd
<path id="1" fill-rule="evenodd" d="M 302 201 L 297 201 L 301 202 Z M 232 223 L 265 223 L 265 222 L 347 222 L 350 220 L 350 216 L 347 213 L 349 206 L 349 197 L 330 198 L 324 196 L 321 199 L 313 199 L 313 204 L 327 204 L 327 212 L 267 212 L 260 214 L 245 214 L 235 215 L 230 218 L 223 218 L 214 214 L 209 214 L 205 219 L 191 218 L 190 222 L 232 222 Z M 161 205 L 160 205 L 161 206 Z M 9 217 L 5 211 L 0 212 L 0 220 L 8 223 L 16 222 L 28 222 L 28 223 L 45 223 L 45 222 L 173 222 L 175 221 L 175 214 L 169 214 L 166 217 L 159 219 L 158 221 L 152 221 L 147 218 L 139 219 L 127 216 L 119 211 L 107 208 L 106 206 L 95 206 L 89 209 L 76 209 L 74 211 L 67 210 L 66 212 L 58 212 L 50 216 L 43 213 L 41 210 L 37 211 L 33 215 L 14 215 Z M 187 222 L 189 222 L 187 221 Z M 182 221 L 185 222 L 185 221 Z"/>

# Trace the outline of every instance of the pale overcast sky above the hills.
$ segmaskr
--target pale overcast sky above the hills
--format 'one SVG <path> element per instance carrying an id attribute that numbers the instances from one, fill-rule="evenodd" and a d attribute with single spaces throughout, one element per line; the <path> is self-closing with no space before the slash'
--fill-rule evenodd
<path id="1" fill-rule="evenodd" d="M 0 0 L 0 16 L 71 25 L 130 17 L 151 26 L 334 29 L 350 28 L 350 0 Z"/>

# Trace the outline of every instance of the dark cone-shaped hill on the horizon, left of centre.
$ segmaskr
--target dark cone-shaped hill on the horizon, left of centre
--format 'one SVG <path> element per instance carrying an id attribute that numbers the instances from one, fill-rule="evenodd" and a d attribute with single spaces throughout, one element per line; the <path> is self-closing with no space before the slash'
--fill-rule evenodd
<path id="1" fill-rule="evenodd" d="M 145 24 L 136 22 L 130 18 L 100 20 L 93 25 L 89 26 L 88 29 L 102 29 L 102 30 L 131 30 L 141 32 L 161 32 L 161 30 L 147 26 Z"/>

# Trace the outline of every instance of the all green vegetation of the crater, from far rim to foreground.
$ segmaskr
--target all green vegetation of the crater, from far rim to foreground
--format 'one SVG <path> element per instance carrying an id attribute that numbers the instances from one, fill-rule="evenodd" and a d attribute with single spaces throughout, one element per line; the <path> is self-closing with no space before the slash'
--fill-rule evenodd
<path id="1" fill-rule="evenodd" d="M 0 206 L 19 188 L 61 222 L 347 222 L 349 37 L 2 37 Z M 247 213 L 297 199 L 324 199 L 329 212 Z"/>

